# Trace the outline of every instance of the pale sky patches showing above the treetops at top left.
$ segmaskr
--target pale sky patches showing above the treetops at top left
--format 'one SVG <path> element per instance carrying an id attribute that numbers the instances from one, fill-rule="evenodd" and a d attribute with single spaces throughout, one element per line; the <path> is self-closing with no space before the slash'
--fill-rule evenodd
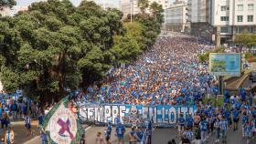
<path id="1" fill-rule="evenodd" d="M 17 6 L 28 6 L 33 2 L 46 1 L 46 0 L 16 0 Z M 70 0 L 74 5 L 79 5 L 82 0 Z M 102 3 L 103 0 L 96 0 Z M 119 7 L 119 0 L 105 0 L 106 3 Z"/>

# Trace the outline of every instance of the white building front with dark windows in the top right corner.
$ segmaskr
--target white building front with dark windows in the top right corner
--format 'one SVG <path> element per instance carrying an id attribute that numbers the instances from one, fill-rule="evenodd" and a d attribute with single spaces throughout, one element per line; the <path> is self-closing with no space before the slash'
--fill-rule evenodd
<path id="1" fill-rule="evenodd" d="M 220 43 L 240 33 L 256 33 L 256 0 L 212 0 L 211 25 Z"/>

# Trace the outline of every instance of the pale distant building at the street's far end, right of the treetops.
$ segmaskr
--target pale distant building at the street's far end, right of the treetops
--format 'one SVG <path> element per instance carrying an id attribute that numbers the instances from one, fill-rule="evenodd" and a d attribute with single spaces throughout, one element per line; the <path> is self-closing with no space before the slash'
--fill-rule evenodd
<path id="1" fill-rule="evenodd" d="M 172 30 L 176 32 L 184 32 L 188 28 L 187 21 L 187 3 L 179 2 L 171 5 L 165 9 L 165 23 L 166 30 Z"/>

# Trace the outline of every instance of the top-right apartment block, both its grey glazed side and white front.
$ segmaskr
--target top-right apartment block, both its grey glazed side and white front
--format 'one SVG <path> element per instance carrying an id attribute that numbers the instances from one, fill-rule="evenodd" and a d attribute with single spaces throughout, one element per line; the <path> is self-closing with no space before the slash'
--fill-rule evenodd
<path id="1" fill-rule="evenodd" d="M 256 0 L 189 0 L 187 6 L 191 34 L 217 46 L 237 34 L 256 33 Z"/>

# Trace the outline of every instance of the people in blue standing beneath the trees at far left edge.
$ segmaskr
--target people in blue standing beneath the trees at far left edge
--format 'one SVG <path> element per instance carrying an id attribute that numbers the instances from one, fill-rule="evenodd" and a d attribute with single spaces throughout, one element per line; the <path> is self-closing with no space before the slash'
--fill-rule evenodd
<path id="1" fill-rule="evenodd" d="M 13 97 L 1 92 L 0 99 L 0 122 L 1 129 L 5 131 L 5 138 L 1 139 L 4 143 L 14 143 L 15 134 L 12 128 L 12 122 L 24 121 L 27 129 L 26 136 L 35 135 L 31 130 L 31 120 L 37 119 L 41 113 L 41 106 L 39 102 L 34 102 L 26 97 Z M 0 143 L 1 143 L 0 142 Z"/>

